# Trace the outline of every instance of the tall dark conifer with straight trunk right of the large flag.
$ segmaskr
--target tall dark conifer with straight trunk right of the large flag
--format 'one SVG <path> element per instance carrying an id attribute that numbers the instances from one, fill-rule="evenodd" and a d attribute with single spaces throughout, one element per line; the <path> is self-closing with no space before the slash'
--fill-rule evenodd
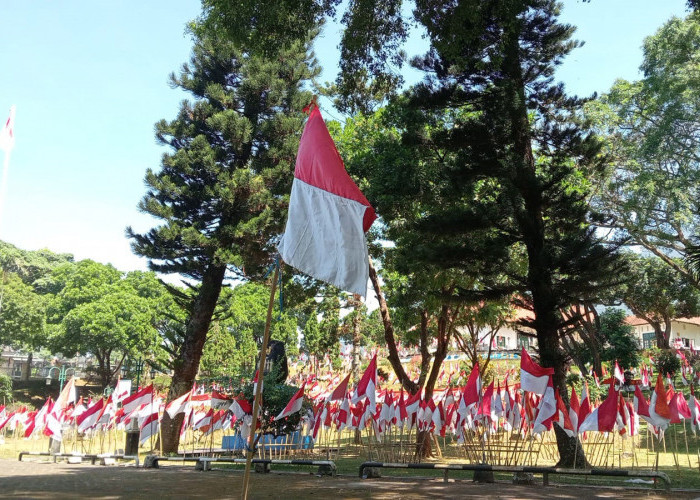
<path id="1" fill-rule="evenodd" d="M 417 2 L 431 46 L 415 63 L 430 76 L 410 92 L 399 129 L 413 155 L 434 156 L 421 177 L 402 173 L 401 189 L 440 202 L 408 222 L 422 233 L 413 258 L 506 274 L 458 292 L 472 300 L 517 293 L 534 312 L 523 324 L 537 333 L 540 362 L 554 368 L 564 395 L 559 310 L 595 297 L 619 264 L 590 224 L 599 143 L 578 120 L 582 102 L 553 80 L 576 46 L 558 9 L 552 0 Z M 560 465 L 584 460 L 576 439 L 557 432 L 557 443 Z"/>

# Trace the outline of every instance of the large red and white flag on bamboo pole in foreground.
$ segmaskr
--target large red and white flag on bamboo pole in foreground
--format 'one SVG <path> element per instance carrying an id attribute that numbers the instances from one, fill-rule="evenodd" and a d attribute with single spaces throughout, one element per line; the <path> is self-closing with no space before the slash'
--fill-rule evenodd
<path id="1" fill-rule="evenodd" d="M 377 218 L 345 170 L 314 106 L 299 143 L 282 260 L 341 290 L 367 294 L 365 233 Z"/>

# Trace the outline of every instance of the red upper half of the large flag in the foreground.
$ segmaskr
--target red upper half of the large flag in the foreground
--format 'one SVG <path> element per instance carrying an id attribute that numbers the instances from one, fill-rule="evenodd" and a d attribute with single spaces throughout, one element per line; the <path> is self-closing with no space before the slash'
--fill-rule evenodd
<path id="1" fill-rule="evenodd" d="M 321 111 L 311 111 L 299 142 L 294 177 L 329 193 L 357 201 L 367 207 L 362 220 L 365 232 L 377 214 L 345 170 L 343 160 L 328 133 Z"/>

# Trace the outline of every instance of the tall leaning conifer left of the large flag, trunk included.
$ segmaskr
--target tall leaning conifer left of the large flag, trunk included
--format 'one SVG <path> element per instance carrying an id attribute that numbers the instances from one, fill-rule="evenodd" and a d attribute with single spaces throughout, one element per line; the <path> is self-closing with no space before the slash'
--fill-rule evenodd
<path id="1" fill-rule="evenodd" d="M 251 5 L 233 7 L 238 22 L 254 20 Z M 171 76 L 193 101 L 156 126 L 170 151 L 159 172 L 146 174 L 139 208 L 161 225 L 145 234 L 128 230 L 134 252 L 151 269 L 190 280 L 187 292 L 172 290 L 187 319 L 170 400 L 194 382 L 224 279 L 261 277 L 270 263 L 273 236 L 285 220 L 301 110 L 311 98 L 302 87 L 317 74 L 309 52 L 314 26 L 268 57 L 212 34 L 206 20 L 196 27 L 191 61 Z M 181 419 L 164 418 L 165 451 L 177 451 Z"/>

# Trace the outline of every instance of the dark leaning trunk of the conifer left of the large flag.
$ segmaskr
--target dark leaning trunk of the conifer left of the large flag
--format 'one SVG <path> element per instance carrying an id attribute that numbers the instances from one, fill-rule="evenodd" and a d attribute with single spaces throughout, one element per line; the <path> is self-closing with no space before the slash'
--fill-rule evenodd
<path id="1" fill-rule="evenodd" d="M 204 273 L 192 313 L 187 321 L 185 338 L 174 362 L 168 402 L 192 389 L 225 272 L 225 265 L 210 265 Z M 181 414 L 174 419 L 171 419 L 167 412 L 163 414 L 161 428 L 164 453 L 177 453 L 182 419 Z"/>

